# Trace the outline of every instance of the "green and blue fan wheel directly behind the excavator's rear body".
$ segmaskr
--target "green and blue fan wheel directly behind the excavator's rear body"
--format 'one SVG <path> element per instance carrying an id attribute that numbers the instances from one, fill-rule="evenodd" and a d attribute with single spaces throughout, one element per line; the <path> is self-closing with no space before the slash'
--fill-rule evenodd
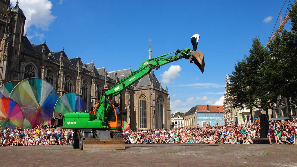
<path id="1" fill-rule="evenodd" d="M 54 108 L 53 116 L 64 115 L 65 113 L 74 112 L 74 110 L 76 112 L 85 112 L 87 110 L 86 103 L 78 94 L 67 92 L 59 97 Z"/>

